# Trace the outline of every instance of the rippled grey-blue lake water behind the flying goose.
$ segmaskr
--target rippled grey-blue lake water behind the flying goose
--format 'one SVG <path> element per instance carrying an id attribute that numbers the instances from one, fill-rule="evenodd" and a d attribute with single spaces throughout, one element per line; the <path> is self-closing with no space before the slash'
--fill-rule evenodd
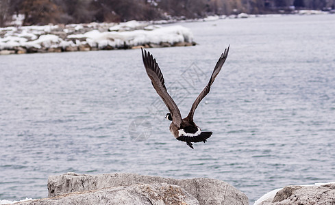
<path id="1" fill-rule="evenodd" d="M 214 134 L 195 150 L 169 133 L 139 50 L 0 56 L 0 199 L 47 197 L 47 177 L 65 172 L 217 178 L 250 202 L 288 184 L 334 181 L 334 22 L 181 23 L 199 45 L 149 49 L 186 116 L 231 46 L 195 112 Z M 134 120 L 151 124 L 147 140 L 129 137 Z"/>

